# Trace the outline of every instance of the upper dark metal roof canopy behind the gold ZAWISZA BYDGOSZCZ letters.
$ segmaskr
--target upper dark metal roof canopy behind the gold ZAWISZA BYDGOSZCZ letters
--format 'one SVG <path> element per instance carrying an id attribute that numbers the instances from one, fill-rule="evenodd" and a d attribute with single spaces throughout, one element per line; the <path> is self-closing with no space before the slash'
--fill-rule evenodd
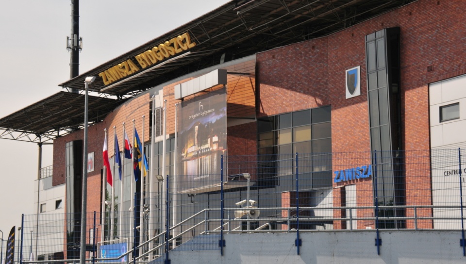
<path id="1" fill-rule="evenodd" d="M 414 0 L 233 0 L 212 12 L 159 36 L 67 82 L 65 88 L 83 89 L 86 76 L 98 76 L 128 58 L 165 41 L 189 33 L 197 45 L 182 58 L 147 67 L 109 85 L 100 77 L 98 90 L 118 96 L 136 95 L 184 74 L 260 51 L 316 38 L 413 2 Z M 136 63 L 136 61 L 134 61 Z"/>

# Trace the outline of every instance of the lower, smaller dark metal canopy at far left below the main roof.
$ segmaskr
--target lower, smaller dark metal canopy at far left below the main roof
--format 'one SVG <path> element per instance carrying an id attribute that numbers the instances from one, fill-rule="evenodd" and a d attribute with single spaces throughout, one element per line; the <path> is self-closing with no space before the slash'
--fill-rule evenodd
<path id="1" fill-rule="evenodd" d="M 113 111 L 121 100 L 89 96 L 89 124 Z M 59 92 L 0 119 L 0 138 L 47 143 L 83 127 L 84 94 Z"/>

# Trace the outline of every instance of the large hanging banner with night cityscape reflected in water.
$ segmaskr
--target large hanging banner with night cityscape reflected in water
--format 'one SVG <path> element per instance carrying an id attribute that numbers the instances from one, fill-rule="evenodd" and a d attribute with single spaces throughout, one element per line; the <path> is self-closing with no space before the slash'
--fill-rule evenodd
<path id="1" fill-rule="evenodd" d="M 226 88 L 182 101 L 178 116 L 177 192 L 199 193 L 220 183 L 227 150 Z"/>

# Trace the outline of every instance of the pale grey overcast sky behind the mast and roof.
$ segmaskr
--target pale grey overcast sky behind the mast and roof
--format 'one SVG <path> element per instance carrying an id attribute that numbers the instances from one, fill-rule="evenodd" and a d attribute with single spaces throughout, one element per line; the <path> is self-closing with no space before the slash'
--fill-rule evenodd
<path id="1" fill-rule="evenodd" d="M 226 2 L 81 0 L 79 72 L 100 66 Z M 71 0 L 1 0 L 0 118 L 62 91 L 58 84 L 69 80 L 66 39 L 71 32 L 70 14 Z M 37 144 L 0 139 L 3 239 L 14 225 L 21 225 L 21 214 L 36 213 L 37 158 Z M 52 147 L 44 146 L 42 167 L 48 165 L 52 165 Z"/>

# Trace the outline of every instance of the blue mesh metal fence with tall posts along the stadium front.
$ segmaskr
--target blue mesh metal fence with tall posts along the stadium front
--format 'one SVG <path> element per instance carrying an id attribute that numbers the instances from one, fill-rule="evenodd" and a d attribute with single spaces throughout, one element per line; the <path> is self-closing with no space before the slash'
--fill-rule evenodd
<path id="1" fill-rule="evenodd" d="M 87 214 L 87 258 L 147 262 L 172 249 L 223 254 L 225 232 L 296 231 L 299 239 L 300 231 L 316 230 L 463 231 L 461 151 L 222 156 L 219 175 L 148 175 L 142 193 L 115 198 L 119 211 Z M 24 215 L 22 262 L 79 259 L 79 219 Z"/>

